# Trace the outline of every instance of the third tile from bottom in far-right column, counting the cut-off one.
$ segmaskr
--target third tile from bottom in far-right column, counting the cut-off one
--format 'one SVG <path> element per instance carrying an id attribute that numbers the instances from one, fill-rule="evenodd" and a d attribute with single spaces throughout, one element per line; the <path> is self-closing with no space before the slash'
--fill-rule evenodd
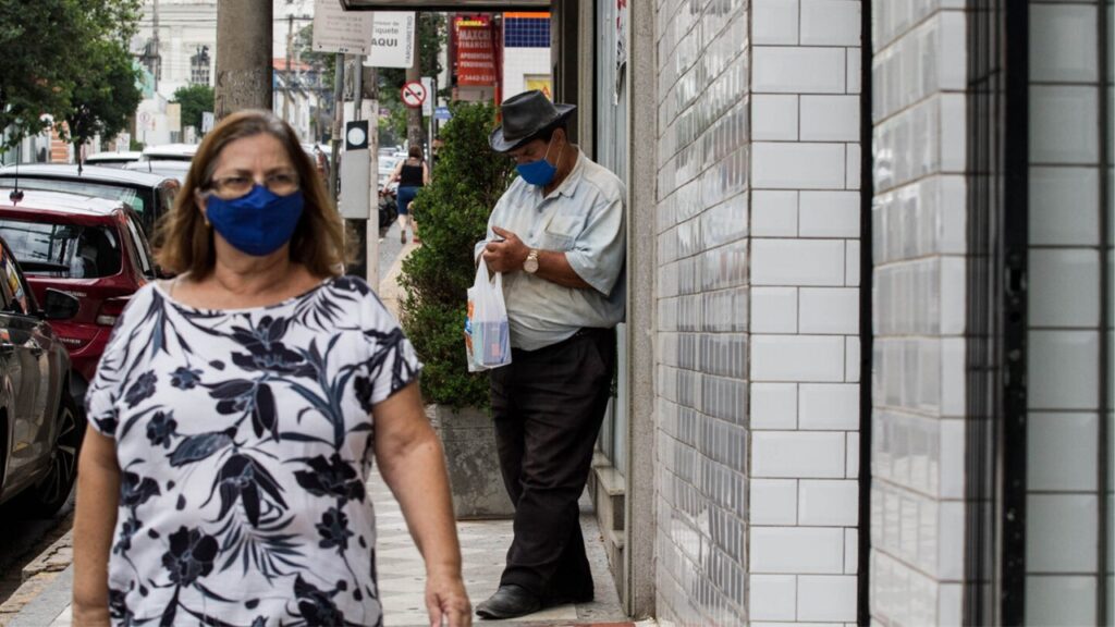
<path id="1" fill-rule="evenodd" d="M 1096 489 L 1096 414 L 1030 413 L 1028 430 L 1027 489 Z"/>

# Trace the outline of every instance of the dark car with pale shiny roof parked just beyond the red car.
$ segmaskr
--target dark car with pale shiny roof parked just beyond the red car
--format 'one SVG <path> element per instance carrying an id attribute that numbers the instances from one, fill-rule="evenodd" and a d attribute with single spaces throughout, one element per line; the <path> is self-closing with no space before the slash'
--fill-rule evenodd
<path id="1" fill-rule="evenodd" d="M 136 162 L 139 163 L 139 162 Z M 181 183 L 174 176 L 130 172 L 119 167 L 41 164 L 9 166 L 0 170 L 0 186 L 11 187 L 19 181 L 22 190 L 74 192 L 124 201 L 139 214 L 144 233 L 155 235 L 155 223 L 171 211 Z"/>

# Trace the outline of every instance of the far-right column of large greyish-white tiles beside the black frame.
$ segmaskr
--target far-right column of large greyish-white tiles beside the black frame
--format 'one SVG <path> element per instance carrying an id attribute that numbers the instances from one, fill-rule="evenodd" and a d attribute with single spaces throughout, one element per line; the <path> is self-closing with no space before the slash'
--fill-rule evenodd
<path id="1" fill-rule="evenodd" d="M 1030 625 L 1096 621 L 1101 16 L 1095 1 L 1030 2 Z"/>

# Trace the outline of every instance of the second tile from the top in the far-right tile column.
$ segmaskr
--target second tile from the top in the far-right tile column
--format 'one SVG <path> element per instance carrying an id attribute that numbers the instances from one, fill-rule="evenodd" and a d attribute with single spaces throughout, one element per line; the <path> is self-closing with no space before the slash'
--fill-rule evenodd
<path id="1" fill-rule="evenodd" d="M 1030 163 L 1096 163 L 1098 96 L 1095 87 L 1031 85 Z"/>

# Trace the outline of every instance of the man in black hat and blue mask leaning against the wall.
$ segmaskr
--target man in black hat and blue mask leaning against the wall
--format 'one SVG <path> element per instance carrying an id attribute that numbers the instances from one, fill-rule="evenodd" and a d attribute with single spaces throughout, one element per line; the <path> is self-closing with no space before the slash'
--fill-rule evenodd
<path id="1" fill-rule="evenodd" d="M 503 273 L 512 365 L 492 370 L 500 466 L 515 539 L 482 618 L 592 600 L 578 499 L 611 390 L 623 319 L 623 183 L 566 131 L 573 105 L 541 91 L 508 98 L 488 143 L 516 164 L 476 244 Z"/>

